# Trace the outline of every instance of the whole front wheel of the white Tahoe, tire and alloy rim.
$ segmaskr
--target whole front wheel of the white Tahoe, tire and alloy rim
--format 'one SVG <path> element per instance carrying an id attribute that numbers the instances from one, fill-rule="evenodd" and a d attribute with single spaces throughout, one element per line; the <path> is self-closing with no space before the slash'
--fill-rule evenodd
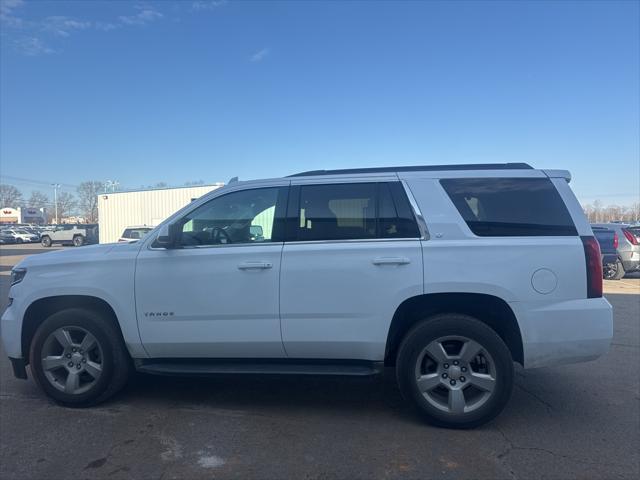
<path id="1" fill-rule="evenodd" d="M 40 388 L 69 407 L 111 397 L 125 385 L 131 368 L 111 319 L 81 308 L 47 318 L 36 330 L 29 357 Z"/>

